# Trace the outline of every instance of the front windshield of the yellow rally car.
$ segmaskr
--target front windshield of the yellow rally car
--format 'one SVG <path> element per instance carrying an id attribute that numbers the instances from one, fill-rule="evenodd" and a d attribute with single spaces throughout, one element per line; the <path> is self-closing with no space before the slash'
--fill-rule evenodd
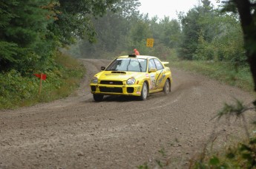
<path id="1" fill-rule="evenodd" d="M 147 60 L 138 58 L 117 58 L 108 67 L 107 71 L 146 72 Z"/>

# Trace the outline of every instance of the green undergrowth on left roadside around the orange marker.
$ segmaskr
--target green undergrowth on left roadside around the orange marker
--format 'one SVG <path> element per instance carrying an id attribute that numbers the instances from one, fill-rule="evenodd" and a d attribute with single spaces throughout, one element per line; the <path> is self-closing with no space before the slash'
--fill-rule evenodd
<path id="1" fill-rule="evenodd" d="M 54 66 L 44 73 L 41 94 L 40 80 L 34 75 L 22 77 L 19 72 L 11 70 L 0 74 L 0 109 L 15 109 L 47 103 L 70 95 L 85 75 L 84 66 L 75 58 L 60 52 L 54 58 Z"/>

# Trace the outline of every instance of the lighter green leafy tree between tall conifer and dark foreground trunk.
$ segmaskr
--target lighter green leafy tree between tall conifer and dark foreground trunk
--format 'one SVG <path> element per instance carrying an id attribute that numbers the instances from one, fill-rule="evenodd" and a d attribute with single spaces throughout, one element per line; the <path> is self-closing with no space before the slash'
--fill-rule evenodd
<path id="1" fill-rule="evenodd" d="M 243 48 L 242 30 L 236 15 L 215 13 L 211 19 L 206 16 L 201 21 L 209 23 L 211 38 L 207 32 L 200 30 L 197 50 L 193 54 L 195 60 L 229 61 L 236 65 L 244 65 L 245 55 Z M 235 36 L 234 36 L 235 35 Z"/>

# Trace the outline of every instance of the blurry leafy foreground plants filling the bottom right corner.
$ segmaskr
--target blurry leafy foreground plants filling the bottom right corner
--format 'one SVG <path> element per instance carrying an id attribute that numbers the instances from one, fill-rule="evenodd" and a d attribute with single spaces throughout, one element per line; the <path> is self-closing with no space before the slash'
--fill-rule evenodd
<path id="1" fill-rule="evenodd" d="M 256 138 L 244 139 L 218 152 L 203 152 L 191 161 L 190 168 L 256 168 Z"/>

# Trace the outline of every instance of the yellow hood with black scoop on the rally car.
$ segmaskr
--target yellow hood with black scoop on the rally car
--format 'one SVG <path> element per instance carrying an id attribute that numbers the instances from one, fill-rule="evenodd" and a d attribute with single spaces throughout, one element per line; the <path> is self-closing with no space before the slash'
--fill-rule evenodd
<path id="1" fill-rule="evenodd" d="M 122 72 L 122 71 L 102 71 L 95 75 L 99 80 L 128 80 L 131 77 L 140 78 L 145 72 Z"/>

